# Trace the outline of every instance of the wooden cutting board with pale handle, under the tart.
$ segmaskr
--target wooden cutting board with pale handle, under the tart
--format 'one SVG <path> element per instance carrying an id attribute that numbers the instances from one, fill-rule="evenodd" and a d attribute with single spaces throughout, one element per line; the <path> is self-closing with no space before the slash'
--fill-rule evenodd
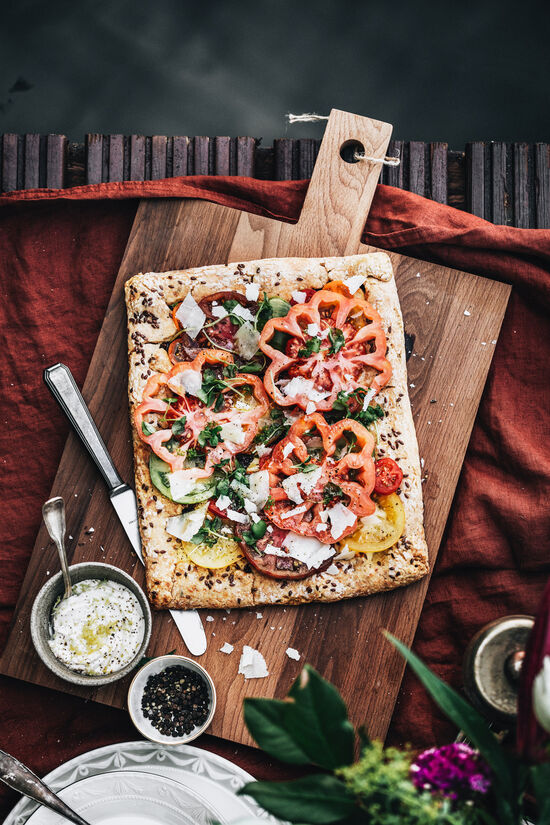
<path id="1" fill-rule="evenodd" d="M 124 282 L 139 271 L 163 271 L 272 256 L 329 256 L 364 252 L 361 232 L 380 164 L 353 160 L 356 143 L 383 158 L 388 124 L 334 111 L 327 126 L 297 224 L 253 216 L 205 201 L 151 200 L 138 209 L 111 302 L 83 388 L 100 432 L 122 477 L 133 478 L 126 395 Z M 350 155 L 351 153 L 351 155 Z M 408 342 L 410 394 L 424 472 L 425 526 L 431 564 L 453 499 L 470 432 L 506 309 L 510 288 L 497 281 L 391 254 Z M 70 366 L 70 365 L 69 365 Z M 54 401 L 52 400 L 52 404 Z M 52 495 L 67 502 L 69 556 L 73 563 L 101 560 L 143 583 L 136 560 L 109 503 L 103 482 L 76 437 L 70 435 Z M 93 528 L 93 532 L 90 532 Z M 56 552 L 42 528 L 29 563 L 0 672 L 119 707 L 128 680 L 94 691 L 69 685 L 36 656 L 29 633 L 33 599 L 53 571 Z M 408 588 L 336 604 L 260 607 L 230 613 L 201 611 L 208 650 L 200 657 L 218 691 L 211 732 L 250 743 L 242 721 L 245 696 L 287 692 L 301 665 L 310 662 L 341 690 L 355 723 L 371 736 L 386 734 L 403 674 L 403 660 L 387 643 L 387 628 L 411 644 L 428 577 Z M 227 656 L 224 642 L 234 645 Z M 243 644 L 259 649 L 270 675 L 245 682 L 237 674 Z M 285 650 L 296 648 L 300 662 Z M 185 646 L 166 613 L 154 616 L 149 655 Z"/>

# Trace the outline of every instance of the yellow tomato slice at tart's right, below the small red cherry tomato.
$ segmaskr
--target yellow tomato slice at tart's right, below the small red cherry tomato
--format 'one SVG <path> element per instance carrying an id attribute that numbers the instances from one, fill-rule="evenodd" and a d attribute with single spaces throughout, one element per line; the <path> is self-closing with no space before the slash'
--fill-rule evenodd
<path id="1" fill-rule="evenodd" d="M 403 535 L 405 508 L 397 493 L 373 496 L 376 510 L 372 516 L 359 519 L 359 529 L 342 541 L 355 553 L 380 553 L 388 550 Z"/>

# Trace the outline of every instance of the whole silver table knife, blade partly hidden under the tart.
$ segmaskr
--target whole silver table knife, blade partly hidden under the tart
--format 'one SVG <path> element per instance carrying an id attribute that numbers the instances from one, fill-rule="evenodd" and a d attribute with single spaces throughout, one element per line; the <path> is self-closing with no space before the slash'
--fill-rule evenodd
<path id="1" fill-rule="evenodd" d="M 65 364 L 47 367 L 44 370 L 44 381 L 103 476 L 116 514 L 132 547 L 143 562 L 136 494 L 119 476 L 70 369 Z M 203 654 L 206 650 L 206 634 L 197 611 L 170 610 L 170 614 L 189 652 L 193 656 Z"/>

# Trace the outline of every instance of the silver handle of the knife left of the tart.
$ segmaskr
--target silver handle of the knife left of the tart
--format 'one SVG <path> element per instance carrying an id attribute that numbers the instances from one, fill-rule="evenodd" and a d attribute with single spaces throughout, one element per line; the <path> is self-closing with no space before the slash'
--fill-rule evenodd
<path id="1" fill-rule="evenodd" d="M 44 370 L 44 381 L 90 453 L 109 489 L 112 491 L 119 487 L 123 481 L 116 471 L 70 369 L 65 364 L 47 367 Z"/>

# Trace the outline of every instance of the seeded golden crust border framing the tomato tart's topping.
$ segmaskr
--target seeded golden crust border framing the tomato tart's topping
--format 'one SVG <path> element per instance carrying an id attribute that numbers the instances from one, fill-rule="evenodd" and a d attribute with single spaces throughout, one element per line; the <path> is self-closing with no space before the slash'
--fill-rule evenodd
<path id="1" fill-rule="evenodd" d="M 405 478 L 401 497 L 406 512 L 404 536 L 389 551 L 371 558 L 355 556 L 336 562 L 338 573 L 318 573 L 300 581 L 281 582 L 236 564 L 208 571 L 182 559 L 177 540 L 169 536 L 166 518 L 181 511 L 151 485 L 149 448 L 133 427 L 133 412 L 152 372 L 170 368 L 160 343 L 176 328 L 168 303 L 182 300 L 191 290 L 200 300 L 221 289 L 244 292 L 247 283 L 258 283 L 268 295 L 290 298 L 305 287 L 320 289 L 329 280 L 367 276 L 369 300 L 380 312 L 393 375 L 377 400 L 387 410 L 379 422 L 378 454 L 399 462 Z M 392 266 L 383 252 L 342 258 L 274 258 L 228 265 L 138 274 L 125 285 L 128 310 L 128 396 L 134 446 L 136 494 L 146 583 L 156 608 L 225 608 L 260 604 L 301 604 L 338 601 L 391 590 L 422 578 L 429 570 L 423 528 L 421 469 L 416 433 L 407 390 L 403 319 Z"/>

